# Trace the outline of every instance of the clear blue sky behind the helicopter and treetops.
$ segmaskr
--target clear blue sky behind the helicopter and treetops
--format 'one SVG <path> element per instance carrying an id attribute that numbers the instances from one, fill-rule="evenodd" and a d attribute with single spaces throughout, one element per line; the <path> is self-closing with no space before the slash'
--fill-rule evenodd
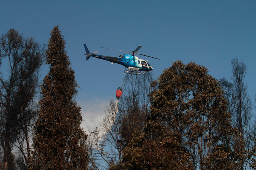
<path id="1" fill-rule="evenodd" d="M 118 57 L 133 51 L 149 59 L 154 78 L 181 60 L 206 66 L 216 79 L 230 80 L 230 60 L 242 59 L 248 67 L 248 93 L 256 92 L 256 1 L 252 0 L 44 0 L 0 1 L 0 33 L 14 28 L 24 36 L 48 43 L 55 25 L 66 41 L 72 69 L 80 89 L 86 131 L 98 126 L 104 107 L 115 99 L 122 85 L 124 67 L 90 58 L 85 61 L 83 43 L 90 52 Z M 42 78 L 48 73 L 42 69 Z M 254 111 L 255 112 L 255 111 Z"/>

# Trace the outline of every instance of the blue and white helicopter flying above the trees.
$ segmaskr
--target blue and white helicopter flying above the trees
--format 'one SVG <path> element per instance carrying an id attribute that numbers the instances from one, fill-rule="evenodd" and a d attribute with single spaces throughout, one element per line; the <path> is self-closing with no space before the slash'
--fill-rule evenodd
<path id="1" fill-rule="evenodd" d="M 112 62 L 111 64 L 117 63 L 117 64 L 121 64 L 123 66 L 125 66 L 124 68 L 124 72 L 126 74 L 134 74 L 134 75 L 140 75 L 140 74 L 144 74 L 146 71 L 152 71 L 153 67 L 148 63 L 148 60 L 145 61 L 143 59 L 139 59 L 138 57 L 134 56 L 134 54 L 138 54 L 138 55 L 143 55 L 140 53 L 137 53 L 137 51 L 141 48 L 142 46 L 138 46 L 134 51 L 125 51 L 128 53 L 132 53 L 132 55 L 119 55 L 119 57 L 109 57 L 109 56 L 104 56 L 104 55 L 97 55 L 98 51 L 95 51 L 94 53 L 90 53 L 86 44 L 84 43 L 84 49 L 86 51 L 86 60 L 89 60 L 89 58 L 95 57 L 97 59 L 102 59 L 102 60 L 106 60 L 106 61 L 110 61 Z M 110 48 L 105 48 L 105 47 L 101 47 L 104 49 L 110 49 Z M 112 50 L 118 50 L 118 49 L 112 49 Z M 118 51 L 123 51 L 123 50 L 118 50 Z M 143 55 L 146 57 L 151 57 L 148 55 Z M 154 59 L 158 59 L 155 57 L 151 57 Z M 158 59 L 160 60 L 160 59 Z"/>

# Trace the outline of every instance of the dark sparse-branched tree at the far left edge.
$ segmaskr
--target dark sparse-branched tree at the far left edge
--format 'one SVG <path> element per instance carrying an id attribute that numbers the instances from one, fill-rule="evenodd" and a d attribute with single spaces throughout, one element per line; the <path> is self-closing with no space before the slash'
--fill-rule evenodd
<path id="1" fill-rule="evenodd" d="M 26 162 L 30 155 L 29 134 L 38 113 L 33 100 L 39 87 L 43 49 L 33 37 L 24 38 L 15 29 L 10 29 L 0 38 L 2 63 L 9 71 L 6 73 L 1 67 L 0 144 L 4 152 L 4 169 L 12 169 L 14 145 L 20 149 Z"/>

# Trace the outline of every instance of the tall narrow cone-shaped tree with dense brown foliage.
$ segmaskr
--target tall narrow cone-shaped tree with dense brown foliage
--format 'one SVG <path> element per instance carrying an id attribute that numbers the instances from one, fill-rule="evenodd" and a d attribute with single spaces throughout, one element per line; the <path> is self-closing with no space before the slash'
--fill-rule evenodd
<path id="1" fill-rule="evenodd" d="M 42 84 L 40 113 L 34 129 L 34 169 L 86 169 L 86 133 L 80 127 L 82 115 L 74 100 L 77 94 L 74 71 L 65 51 L 59 26 L 52 29 L 46 51 L 50 72 Z"/>

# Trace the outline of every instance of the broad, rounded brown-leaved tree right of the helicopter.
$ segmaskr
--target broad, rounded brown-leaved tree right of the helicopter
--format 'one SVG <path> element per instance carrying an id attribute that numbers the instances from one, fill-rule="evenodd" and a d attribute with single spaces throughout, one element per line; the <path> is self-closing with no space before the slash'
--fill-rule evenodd
<path id="1" fill-rule="evenodd" d="M 126 168 L 237 167 L 228 103 L 205 67 L 174 62 L 152 86 L 148 127 L 124 149 Z"/>

